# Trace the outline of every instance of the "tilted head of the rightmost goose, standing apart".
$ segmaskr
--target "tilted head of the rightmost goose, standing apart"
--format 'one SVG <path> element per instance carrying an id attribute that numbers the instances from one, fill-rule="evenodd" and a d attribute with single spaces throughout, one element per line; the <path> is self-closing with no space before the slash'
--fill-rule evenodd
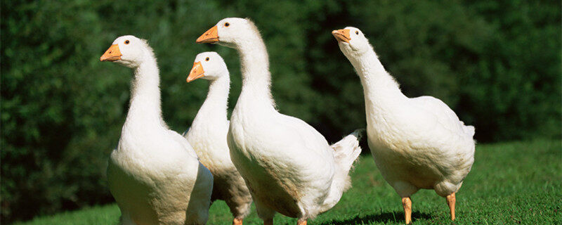
<path id="1" fill-rule="evenodd" d="M 355 27 L 346 27 L 341 30 L 332 31 L 332 35 L 338 41 L 339 49 L 348 58 L 360 56 L 371 49 L 369 40 L 363 32 Z"/>

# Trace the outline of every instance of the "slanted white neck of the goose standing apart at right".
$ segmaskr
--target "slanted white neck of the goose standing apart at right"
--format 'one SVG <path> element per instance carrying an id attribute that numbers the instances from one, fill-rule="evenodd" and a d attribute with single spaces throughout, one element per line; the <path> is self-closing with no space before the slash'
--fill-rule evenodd
<path id="1" fill-rule="evenodd" d="M 367 117 L 370 113 L 392 110 L 392 105 L 407 99 L 400 91 L 398 83 L 384 70 L 373 49 L 360 56 L 348 58 L 361 79 Z"/>

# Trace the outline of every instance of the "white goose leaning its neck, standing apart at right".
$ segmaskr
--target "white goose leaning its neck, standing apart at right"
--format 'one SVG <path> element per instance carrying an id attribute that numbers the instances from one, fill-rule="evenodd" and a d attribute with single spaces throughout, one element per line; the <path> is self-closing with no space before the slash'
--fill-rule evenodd
<path id="1" fill-rule="evenodd" d="M 420 188 L 445 197 L 454 220 L 455 193 L 474 162 L 474 127 L 465 126 L 438 98 L 407 98 L 359 29 L 332 34 L 361 79 L 367 143 L 384 179 L 402 198 L 406 224 L 410 195 Z"/>

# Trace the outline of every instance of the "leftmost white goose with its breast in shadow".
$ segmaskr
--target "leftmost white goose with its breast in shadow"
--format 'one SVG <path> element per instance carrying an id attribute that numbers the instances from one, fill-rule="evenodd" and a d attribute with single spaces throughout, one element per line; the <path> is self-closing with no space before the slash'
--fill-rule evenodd
<path id="1" fill-rule="evenodd" d="M 134 70 L 129 113 L 107 166 L 121 224 L 205 224 L 213 176 L 197 160 L 190 143 L 162 119 L 152 49 L 143 39 L 122 36 L 100 61 Z"/>

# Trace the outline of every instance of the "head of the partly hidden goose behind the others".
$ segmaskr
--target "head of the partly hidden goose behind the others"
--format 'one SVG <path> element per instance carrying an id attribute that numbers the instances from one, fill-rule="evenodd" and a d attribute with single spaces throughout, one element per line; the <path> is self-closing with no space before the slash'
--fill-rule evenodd
<path id="1" fill-rule="evenodd" d="M 214 51 L 207 51 L 195 57 L 193 68 L 188 75 L 188 83 L 199 78 L 216 80 L 225 76 L 228 77 L 228 69 L 223 58 Z"/>

